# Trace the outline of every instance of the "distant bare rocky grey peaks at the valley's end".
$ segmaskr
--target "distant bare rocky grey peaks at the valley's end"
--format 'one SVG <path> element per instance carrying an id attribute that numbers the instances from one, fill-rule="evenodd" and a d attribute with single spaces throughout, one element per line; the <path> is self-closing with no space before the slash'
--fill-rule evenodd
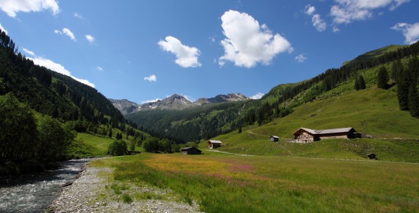
<path id="1" fill-rule="evenodd" d="M 145 104 L 137 104 L 126 99 L 114 100 L 109 99 L 113 106 L 118 109 L 123 115 L 136 113 L 138 111 L 146 111 L 152 109 L 165 109 L 165 110 L 182 110 L 196 106 L 203 106 L 205 104 L 216 104 L 221 102 L 237 102 L 242 100 L 250 100 L 251 98 L 241 93 L 229 93 L 227 95 L 218 95 L 214 98 L 199 98 L 192 102 L 187 98 L 174 94 L 163 100 L 155 102 L 147 102 Z"/>

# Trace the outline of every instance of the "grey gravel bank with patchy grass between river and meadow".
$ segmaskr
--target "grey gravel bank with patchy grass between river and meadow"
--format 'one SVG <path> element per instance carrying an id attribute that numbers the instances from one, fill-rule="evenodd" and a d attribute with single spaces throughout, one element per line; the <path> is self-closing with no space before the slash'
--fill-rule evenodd
<path id="1" fill-rule="evenodd" d="M 105 179 L 109 176 L 104 174 L 111 172 L 110 168 L 87 166 L 45 212 L 199 212 L 196 202 L 176 202 L 179 199 L 172 199 L 169 190 L 109 183 Z M 144 199 L 133 199 L 141 194 L 146 194 Z M 129 201 L 124 197 L 129 197 Z"/>

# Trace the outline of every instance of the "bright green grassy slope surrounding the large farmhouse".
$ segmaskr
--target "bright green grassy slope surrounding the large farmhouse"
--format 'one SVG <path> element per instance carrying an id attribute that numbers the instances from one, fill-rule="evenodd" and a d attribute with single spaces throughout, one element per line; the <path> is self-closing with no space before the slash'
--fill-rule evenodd
<path id="1" fill-rule="evenodd" d="M 388 66 L 388 65 L 387 65 Z M 237 131 L 219 135 L 225 146 L 219 150 L 249 155 L 293 155 L 300 157 L 359 158 L 374 152 L 385 160 L 419 161 L 419 119 L 409 112 L 400 111 L 396 88 L 378 89 L 375 76 L 378 67 L 360 73 L 367 89 L 354 91 L 353 80 L 324 93 L 314 102 L 295 107 L 294 113 L 262 126 L 247 126 Z M 297 98 L 302 98 L 304 94 Z M 299 127 L 325 129 L 354 127 L 359 133 L 373 135 L 376 139 L 328 139 L 313 144 L 271 143 L 270 135 L 292 138 Z M 393 138 L 402 140 L 389 140 Z M 350 147 L 348 144 L 352 144 Z M 402 145 L 403 144 L 403 145 Z M 206 144 L 201 144 L 205 148 Z M 361 148 L 360 148 L 361 147 Z"/>

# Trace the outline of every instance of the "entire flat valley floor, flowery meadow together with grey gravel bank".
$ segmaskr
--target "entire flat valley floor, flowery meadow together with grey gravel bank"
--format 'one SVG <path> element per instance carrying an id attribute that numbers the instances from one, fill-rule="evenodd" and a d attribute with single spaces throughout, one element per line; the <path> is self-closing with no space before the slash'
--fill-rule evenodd
<path id="1" fill-rule="evenodd" d="M 95 159 L 52 212 L 418 212 L 419 165 L 151 154 Z"/>

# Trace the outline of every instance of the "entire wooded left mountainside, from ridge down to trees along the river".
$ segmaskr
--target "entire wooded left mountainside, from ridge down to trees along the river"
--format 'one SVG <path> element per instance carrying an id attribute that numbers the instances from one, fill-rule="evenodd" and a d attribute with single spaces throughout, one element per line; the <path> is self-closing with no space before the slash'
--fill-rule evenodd
<path id="1" fill-rule="evenodd" d="M 10 161 L 36 168 L 35 162 L 91 156 L 74 141 L 77 133 L 144 139 L 135 128 L 96 89 L 34 65 L 0 30 L 0 175 L 15 169 Z"/>

